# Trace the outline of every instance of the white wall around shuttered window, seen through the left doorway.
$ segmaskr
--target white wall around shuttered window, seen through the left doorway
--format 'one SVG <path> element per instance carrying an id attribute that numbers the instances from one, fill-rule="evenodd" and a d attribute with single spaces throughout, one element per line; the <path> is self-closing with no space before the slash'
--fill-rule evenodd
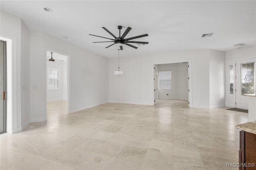
<path id="1" fill-rule="evenodd" d="M 65 61 L 65 63 L 66 63 L 66 61 Z M 65 84 L 67 83 L 66 81 L 64 81 L 64 75 L 66 75 L 64 73 L 64 71 L 66 72 L 66 70 L 64 70 L 64 61 L 58 61 L 58 60 L 55 60 L 54 62 L 47 61 L 47 73 L 46 73 L 47 81 L 48 81 L 48 70 L 49 69 L 59 70 L 60 88 L 59 89 L 48 89 L 48 87 L 47 87 L 47 102 L 64 100 L 63 94 L 64 94 L 64 90 L 66 90 Z"/>

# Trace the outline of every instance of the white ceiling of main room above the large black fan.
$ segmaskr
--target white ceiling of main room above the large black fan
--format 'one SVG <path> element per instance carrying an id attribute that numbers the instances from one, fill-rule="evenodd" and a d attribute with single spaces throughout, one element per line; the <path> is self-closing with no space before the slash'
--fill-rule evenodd
<path id="1" fill-rule="evenodd" d="M 32 31 L 44 32 L 105 57 L 117 57 L 118 46 L 89 36 L 118 36 L 118 25 L 132 30 L 126 38 L 148 34 L 123 45 L 120 57 L 148 55 L 186 49 L 228 51 L 234 45 L 256 45 L 256 1 L 0 1 L 1 10 L 22 18 Z M 53 12 L 45 12 L 49 7 Z M 214 33 L 201 38 L 202 34 Z M 67 36 L 67 39 L 63 39 Z"/>

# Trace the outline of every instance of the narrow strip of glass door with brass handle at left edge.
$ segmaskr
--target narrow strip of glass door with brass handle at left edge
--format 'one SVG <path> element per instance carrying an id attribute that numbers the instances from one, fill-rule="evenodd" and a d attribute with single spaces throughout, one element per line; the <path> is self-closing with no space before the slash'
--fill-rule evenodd
<path id="1" fill-rule="evenodd" d="M 6 132 L 6 42 L 0 41 L 0 133 Z"/>

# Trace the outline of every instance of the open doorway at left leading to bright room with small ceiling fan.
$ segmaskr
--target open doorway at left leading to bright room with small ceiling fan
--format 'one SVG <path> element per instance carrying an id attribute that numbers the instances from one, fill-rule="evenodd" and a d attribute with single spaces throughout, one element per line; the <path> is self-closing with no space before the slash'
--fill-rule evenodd
<path id="1" fill-rule="evenodd" d="M 46 51 L 47 114 L 68 113 L 68 56 Z"/>

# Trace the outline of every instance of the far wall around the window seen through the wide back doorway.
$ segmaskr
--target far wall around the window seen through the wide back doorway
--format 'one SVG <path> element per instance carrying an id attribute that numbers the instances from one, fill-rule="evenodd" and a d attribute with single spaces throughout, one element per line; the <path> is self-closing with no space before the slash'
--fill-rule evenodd
<path id="1" fill-rule="evenodd" d="M 159 89 L 158 84 L 158 98 L 188 100 L 188 63 L 159 64 L 161 70 L 171 70 L 171 89 Z"/>

